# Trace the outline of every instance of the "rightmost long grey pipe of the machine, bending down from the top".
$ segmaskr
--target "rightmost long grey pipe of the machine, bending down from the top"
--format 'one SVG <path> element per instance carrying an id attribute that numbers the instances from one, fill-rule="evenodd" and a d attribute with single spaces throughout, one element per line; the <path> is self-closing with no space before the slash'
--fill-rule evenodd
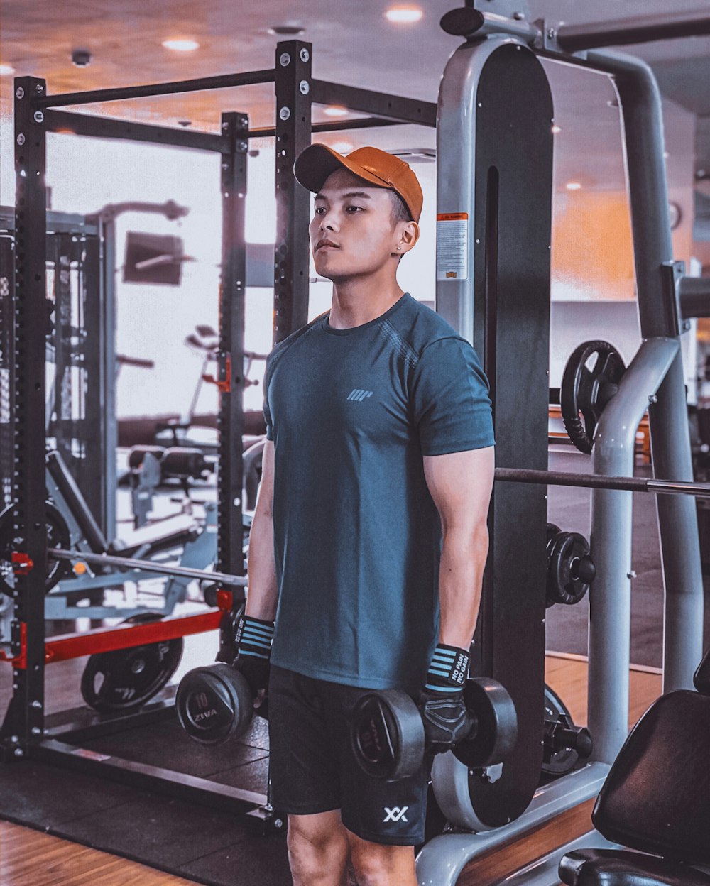
<path id="1" fill-rule="evenodd" d="M 690 431 L 680 352 L 673 245 L 667 214 L 663 111 L 651 68 L 615 52 L 589 52 L 589 63 L 613 75 L 623 118 L 628 195 L 643 338 L 669 336 L 678 351 L 649 406 L 654 473 L 691 481 Z M 677 269 L 677 268 L 676 268 Z M 611 471 L 608 471 L 611 472 Z M 657 499 L 666 590 L 663 691 L 692 687 L 703 654 L 703 577 L 695 502 L 682 496 Z"/>

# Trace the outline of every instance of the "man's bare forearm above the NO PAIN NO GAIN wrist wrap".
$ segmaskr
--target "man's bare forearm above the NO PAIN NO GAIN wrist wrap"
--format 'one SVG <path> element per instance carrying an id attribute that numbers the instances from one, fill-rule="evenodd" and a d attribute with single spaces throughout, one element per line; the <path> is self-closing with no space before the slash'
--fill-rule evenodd
<path id="1" fill-rule="evenodd" d="M 444 532 L 439 569 L 441 628 L 439 640 L 468 649 L 480 607 L 480 589 L 488 556 L 488 529 Z"/>

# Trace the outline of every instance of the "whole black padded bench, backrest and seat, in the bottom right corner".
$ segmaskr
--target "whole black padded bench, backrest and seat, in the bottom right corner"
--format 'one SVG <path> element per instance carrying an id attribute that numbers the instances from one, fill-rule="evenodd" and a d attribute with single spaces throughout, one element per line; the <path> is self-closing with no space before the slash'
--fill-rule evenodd
<path id="1" fill-rule="evenodd" d="M 710 886 L 693 867 L 710 866 L 710 649 L 693 683 L 651 704 L 597 798 L 595 828 L 628 850 L 568 853 L 568 886 Z"/>

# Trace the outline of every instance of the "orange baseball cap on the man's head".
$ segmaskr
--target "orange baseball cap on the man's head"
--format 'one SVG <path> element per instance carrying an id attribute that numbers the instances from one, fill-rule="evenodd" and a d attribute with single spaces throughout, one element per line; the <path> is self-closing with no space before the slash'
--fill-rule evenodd
<path id="1" fill-rule="evenodd" d="M 296 181 L 317 194 L 325 179 L 339 168 L 348 169 L 379 188 L 391 188 L 400 195 L 414 221 L 422 214 L 424 195 L 409 163 L 379 148 L 358 148 L 343 157 L 327 144 L 310 144 L 293 164 Z"/>

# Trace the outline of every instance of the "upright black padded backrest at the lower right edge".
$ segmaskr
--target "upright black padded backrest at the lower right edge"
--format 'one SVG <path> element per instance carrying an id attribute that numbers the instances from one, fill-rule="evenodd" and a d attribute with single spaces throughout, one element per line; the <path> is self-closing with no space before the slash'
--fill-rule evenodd
<path id="1" fill-rule="evenodd" d="M 651 704 L 614 761 L 592 821 L 612 843 L 710 865 L 710 696 L 679 689 Z"/>

